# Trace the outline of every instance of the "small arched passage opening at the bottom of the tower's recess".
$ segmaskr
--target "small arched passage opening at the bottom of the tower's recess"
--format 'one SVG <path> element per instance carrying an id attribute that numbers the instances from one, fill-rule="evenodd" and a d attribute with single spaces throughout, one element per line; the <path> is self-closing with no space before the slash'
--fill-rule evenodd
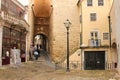
<path id="1" fill-rule="evenodd" d="M 38 53 L 40 53 L 39 55 L 39 60 L 45 60 L 45 61 L 50 61 L 50 57 L 49 57 L 49 49 L 48 49 L 48 37 L 44 34 L 37 34 L 34 36 L 33 39 L 34 42 L 34 49 L 39 51 Z"/>

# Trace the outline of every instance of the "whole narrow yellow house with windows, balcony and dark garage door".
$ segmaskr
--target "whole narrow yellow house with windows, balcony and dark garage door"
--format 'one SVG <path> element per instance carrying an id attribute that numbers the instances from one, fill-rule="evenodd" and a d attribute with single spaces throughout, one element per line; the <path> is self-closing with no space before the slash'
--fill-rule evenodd
<path id="1" fill-rule="evenodd" d="M 114 67 L 109 35 L 110 0 L 79 0 L 81 55 L 84 69 Z M 112 65 L 112 66 L 110 66 Z"/>

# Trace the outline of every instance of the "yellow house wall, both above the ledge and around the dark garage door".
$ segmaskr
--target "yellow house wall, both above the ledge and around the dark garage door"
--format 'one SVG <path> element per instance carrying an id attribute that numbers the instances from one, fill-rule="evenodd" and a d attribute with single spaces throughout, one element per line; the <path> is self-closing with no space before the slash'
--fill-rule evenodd
<path id="1" fill-rule="evenodd" d="M 108 16 L 111 6 L 112 0 L 104 0 L 103 6 L 98 6 L 98 0 L 93 0 L 92 6 L 87 6 L 87 0 L 81 0 L 79 4 L 79 15 L 82 15 L 80 27 L 83 32 L 82 41 L 84 45 L 89 46 L 90 32 L 98 31 L 98 39 L 101 39 L 101 46 L 109 46 L 109 39 L 103 40 L 103 33 L 109 33 Z M 96 21 L 90 21 L 90 13 L 96 13 Z M 83 51 L 105 51 L 106 61 L 108 63 L 114 61 L 109 48 L 87 48 L 83 49 Z"/>

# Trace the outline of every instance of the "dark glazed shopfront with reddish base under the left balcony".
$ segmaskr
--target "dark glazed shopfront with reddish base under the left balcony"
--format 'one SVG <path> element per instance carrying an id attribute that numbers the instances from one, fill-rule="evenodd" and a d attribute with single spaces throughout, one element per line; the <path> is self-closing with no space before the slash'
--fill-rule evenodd
<path id="1" fill-rule="evenodd" d="M 25 62 L 26 51 L 26 33 L 25 28 L 20 29 L 3 27 L 2 35 L 2 65 L 10 64 L 11 49 L 16 45 L 20 49 L 21 62 Z"/>

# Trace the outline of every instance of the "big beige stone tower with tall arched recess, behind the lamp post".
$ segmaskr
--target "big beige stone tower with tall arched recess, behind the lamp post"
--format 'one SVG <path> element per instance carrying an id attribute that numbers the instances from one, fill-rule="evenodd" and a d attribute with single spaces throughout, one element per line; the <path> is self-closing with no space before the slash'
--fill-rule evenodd
<path id="1" fill-rule="evenodd" d="M 80 45 L 79 10 L 77 0 L 30 0 L 29 24 L 31 26 L 31 41 L 34 36 L 45 36 L 46 46 L 51 59 L 61 62 L 66 58 L 67 34 L 64 22 L 69 19 L 70 26 L 70 54 Z"/>

